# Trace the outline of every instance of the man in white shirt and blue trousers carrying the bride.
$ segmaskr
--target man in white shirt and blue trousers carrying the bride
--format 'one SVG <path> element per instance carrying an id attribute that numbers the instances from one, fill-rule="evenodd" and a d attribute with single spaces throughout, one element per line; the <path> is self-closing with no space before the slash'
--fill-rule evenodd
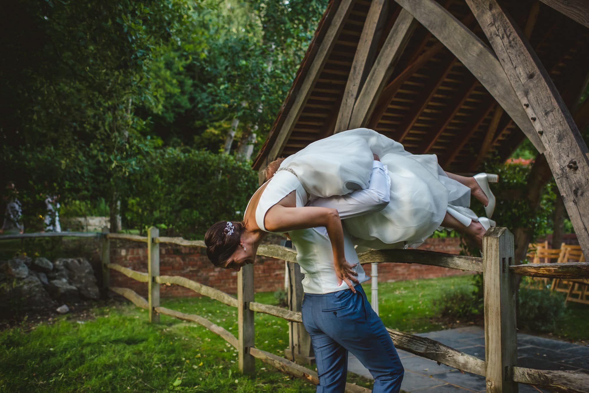
<path id="1" fill-rule="evenodd" d="M 337 209 L 340 218 L 356 217 L 386 207 L 390 178 L 375 155 L 369 186 L 351 194 L 319 198 L 307 206 Z M 303 325 L 311 337 L 317 374 L 318 393 L 343 392 L 348 371 L 348 352 L 352 352 L 375 378 L 373 392 L 399 392 L 403 366 L 381 319 L 373 311 L 361 282 L 369 277 L 359 264 L 352 238 L 343 228 L 346 260 L 356 263 L 354 289 L 344 289 L 326 274 L 336 277 L 332 246 L 325 227 L 289 232 L 297 249 L 297 262 L 305 274 L 302 304 Z M 343 287 L 347 287 L 343 285 Z"/>

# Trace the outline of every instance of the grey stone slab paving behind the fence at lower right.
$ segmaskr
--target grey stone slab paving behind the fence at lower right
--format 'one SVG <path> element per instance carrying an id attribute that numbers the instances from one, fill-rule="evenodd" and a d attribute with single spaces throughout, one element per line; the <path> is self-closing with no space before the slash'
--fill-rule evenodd
<path id="1" fill-rule="evenodd" d="M 465 327 L 418 334 L 485 359 L 485 332 L 481 327 Z M 576 370 L 589 373 L 589 347 L 518 333 L 518 365 L 547 370 Z M 405 368 L 401 388 L 406 392 L 465 393 L 485 392 L 485 377 L 398 351 Z M 372 379 L 370 372 L 350 354 L 348 371 Z M 519 393 L 548 393 L 548 389 L 519 384 Z"/>

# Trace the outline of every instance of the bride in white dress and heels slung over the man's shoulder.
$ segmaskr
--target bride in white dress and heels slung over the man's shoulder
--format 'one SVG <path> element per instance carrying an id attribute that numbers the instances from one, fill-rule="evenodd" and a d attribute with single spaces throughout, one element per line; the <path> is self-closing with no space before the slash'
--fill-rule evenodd
<path id="1" fill-rule="evenodd" d="M 358 203 L 346 195 L 368 187 L 374 156 L 388 171 L 389 203 L 359 217 L 341 217 L 333 202 Z M 435 155 L 413 155 L 371 129 L 352 129 L 313 142 L 272 162 L 266 175 L 269 179 L 250 199 L 242 222 L 217 222 L 207 231 L 207 255 L 217 267 L 239 270 L 253 263 L 269 232 L 325 227 L 337 277 L 346 281 L 353 274 L 337 251 L 343 242 L 342 222 L 355 244 L 375 249 L 416 247 L 439 227 L 456 229 L 481 247 L 485 231 L 495 225 L 489 219 L 495 198 L 488 184 L 497 182 L 497 175 L 444 172 Z M 471 195 L 485 204 L 489 218 L 477 217 L 468 208 Z"/>

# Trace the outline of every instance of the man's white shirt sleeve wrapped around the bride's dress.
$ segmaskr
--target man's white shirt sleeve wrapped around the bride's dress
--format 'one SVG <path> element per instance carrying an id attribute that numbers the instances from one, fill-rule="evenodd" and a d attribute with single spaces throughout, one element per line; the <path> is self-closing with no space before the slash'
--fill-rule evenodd
<path id="1" fill-rule="evenodd" d="M 346 219 L 384 209 L 389 204 L 390 196 L 391 178 L 386 165 L 382 165 L 380 161 L 374 161 L 368 188 L 346 195 L 313 199 L 307 206 L 337 209 L 339 217 Z"/>

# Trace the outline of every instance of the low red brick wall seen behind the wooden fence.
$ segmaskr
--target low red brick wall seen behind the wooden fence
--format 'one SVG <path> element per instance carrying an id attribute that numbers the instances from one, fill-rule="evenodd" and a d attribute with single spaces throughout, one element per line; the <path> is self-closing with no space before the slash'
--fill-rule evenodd
<path id="1" fill-rule="evenodd" d="M 458 254 L 459 239 L 428 239 L 419 249 Z M 111 241 L 111 262 L 135 271 L 147 272 L 147 244 L 132 241 Z M 370 274 L 370 265 L 365 265 Z M 203 248 L 160 244 L 160 274 L 186 277 L 200 284 L 234 294 L 237 291 L 237 272 L 214 268 Z M 402 281 L 416 278 L 445 277 L 469 274 L 456 269 L 419 264 L 379 264 L 379 282 Z M 147 297 L 147 284 L 110 270 L 112 287 L 131 288 Z M 284 287 L 284 262 L 274 258 L 257 257 L 254 265 L 256 292 L 276 291 Z M 161 285 L 160 294 L 167 296 L 198 296 L 196 292 L 178 285 Z"/>

